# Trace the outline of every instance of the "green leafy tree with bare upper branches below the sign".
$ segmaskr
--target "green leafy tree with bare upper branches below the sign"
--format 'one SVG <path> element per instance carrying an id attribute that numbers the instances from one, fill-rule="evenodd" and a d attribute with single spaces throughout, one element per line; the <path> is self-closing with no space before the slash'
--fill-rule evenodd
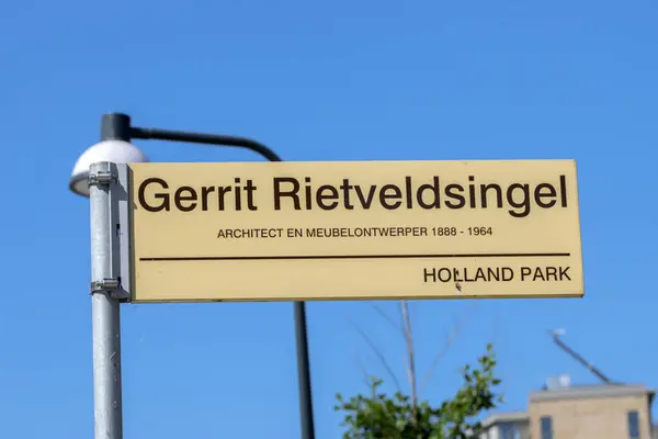
<path id="1" fill-rule="evenodd" d="M 456 394 L 439 406 L 432 406 L 427 401 L 419 402 L 417 396 L 411 324 L 406 301 L 401 301 L 401 315 L 404 325 L 400 329 L 408 347 L 410 394 L 405 395 L 399 390 L 393 395 L 386 394 L 379 390 L 384 381 L 375 376 L 370 378 L 367 394 L 349 398 L 338 394 L 334 408 L 344 413 L 342 426 L 347 431 L 343 439 L 472 438 L 480 428 L 478 415 L 502 402 L 502 395 L 496 391 L 500 380 L 495 373 L 496 353 L 492 345 L 487 345 L 476 367 L 466 364 L 463 368 L 463 384 Z M 378 357 L 385 363 L 384 358 L 381 354 Z M 390 368 L 386 363 L 385 367 L 390 373 Z M 395 376 L 392 378 L 397 381 Z"/>

